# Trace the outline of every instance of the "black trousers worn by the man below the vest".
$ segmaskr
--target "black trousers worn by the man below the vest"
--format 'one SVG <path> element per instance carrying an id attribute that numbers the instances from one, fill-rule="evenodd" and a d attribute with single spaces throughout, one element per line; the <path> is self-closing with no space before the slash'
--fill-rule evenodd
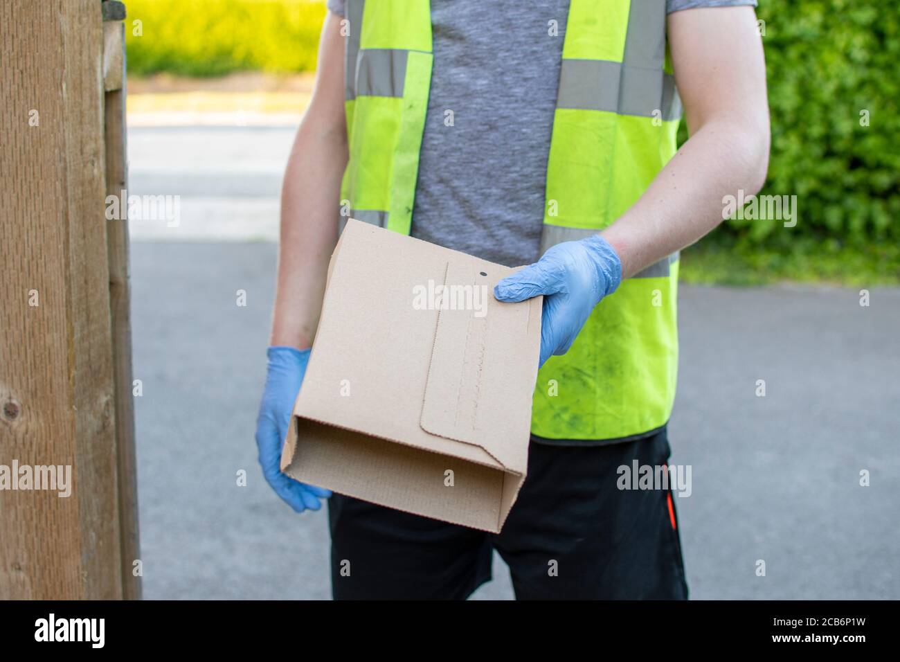
<path id="1" fill-rule="evenodd" d="M 498 535 L 334 494 L 334 597 L 464 599 L 491 579 L 497 549 L 518 599 L 686 599 L 671 488 L 617 486 L 618 467 L 669 454 L 664 431 L 607 446 L 532 442 Z"/>

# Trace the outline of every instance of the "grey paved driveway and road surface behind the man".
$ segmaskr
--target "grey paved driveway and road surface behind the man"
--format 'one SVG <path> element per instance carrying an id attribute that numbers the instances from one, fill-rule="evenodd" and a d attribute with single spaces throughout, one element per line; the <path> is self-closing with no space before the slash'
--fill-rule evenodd
<path id="1" fill-rule="evenodd" d="M 280 503 L 253 441 L 275 245 L 247 240 L 274 236 L 292 138 L 130 131 L 131 192 L 182 196 L 177 228 L 132 224 L 148 598 L 329 597 L 324 513 Z M 900 290 L 859 298 L 682 286 L 670 438 L 691 467 L 676 505 L 693 598 L 900 598 Z M 511 597 L 500 558 L 494 574 L 476 597 Z"/>

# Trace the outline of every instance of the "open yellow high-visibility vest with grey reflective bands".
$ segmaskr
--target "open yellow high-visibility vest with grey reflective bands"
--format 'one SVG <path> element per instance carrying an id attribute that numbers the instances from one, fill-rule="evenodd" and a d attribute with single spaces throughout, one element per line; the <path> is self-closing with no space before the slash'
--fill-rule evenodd
<path id="1" fill-rule="evenodd" d="M 428 0 L 347 0 L 349 216 L 410 233 L 431 82 Z M 607 227 L 676 150 L 665 0 L 572 0 L 547 160 L 542 252 Z M 346 218 L 346 216 L 344 216 Z M 678 253 L 623 281 L 537 377 L 532 433 L 640 437 L 669 420 Z"/>

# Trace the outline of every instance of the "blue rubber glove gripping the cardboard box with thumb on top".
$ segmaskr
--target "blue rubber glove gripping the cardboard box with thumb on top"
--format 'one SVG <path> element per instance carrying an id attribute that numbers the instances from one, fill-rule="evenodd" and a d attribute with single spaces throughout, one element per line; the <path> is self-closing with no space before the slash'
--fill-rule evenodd
<path id="1" fill-rule="evenodd" d="M 494 296 L 517 302 L 544 295 L 539 364 L 543 366 L 551 355 L 569 351 L 594 306 L 615 292 L 621 280 L 616 251 L 595 234 L 551 247 L 535 264 L 501 280 Z"/>

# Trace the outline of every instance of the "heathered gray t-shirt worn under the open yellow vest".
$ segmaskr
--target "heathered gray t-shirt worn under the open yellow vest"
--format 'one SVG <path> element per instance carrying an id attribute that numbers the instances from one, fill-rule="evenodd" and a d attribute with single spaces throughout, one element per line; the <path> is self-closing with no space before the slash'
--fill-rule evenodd
<path id="1" fill-rule="evenodd" d="M 343 15 L 344 2 L 328 0 L 329 9 Z M 671 13 L 756 2 L 667 4 Z M 434 65 L 412 236 L 509 267 L 540 257 L 568 13 L 569 0 L 431 0 Z"/>

